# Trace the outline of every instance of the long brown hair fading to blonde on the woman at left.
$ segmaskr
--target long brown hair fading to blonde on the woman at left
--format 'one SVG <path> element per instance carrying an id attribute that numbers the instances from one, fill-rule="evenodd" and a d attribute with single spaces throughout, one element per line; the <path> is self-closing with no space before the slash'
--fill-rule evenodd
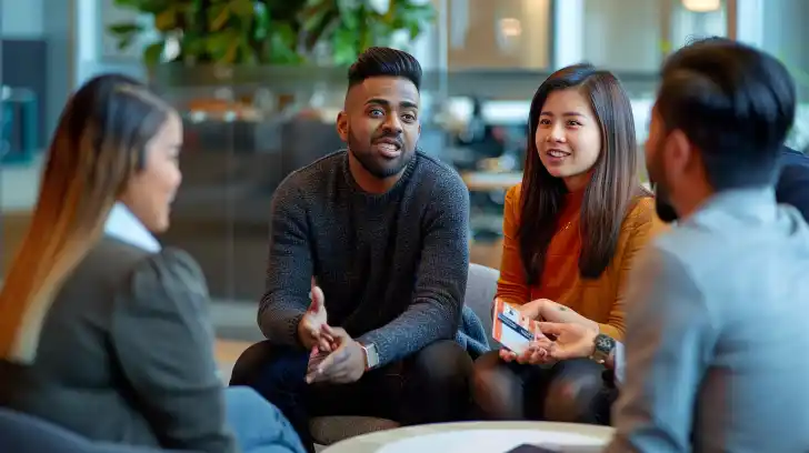
<path id="1" fill-rule="evenodd" d="M 134 79 L 88 81 L 68 101 L 48 151 L 39 199 L 0 291 L 0 359 L 36 359 L 42 324 L 62 282 L 87 255 L 168 105 Z"/>

